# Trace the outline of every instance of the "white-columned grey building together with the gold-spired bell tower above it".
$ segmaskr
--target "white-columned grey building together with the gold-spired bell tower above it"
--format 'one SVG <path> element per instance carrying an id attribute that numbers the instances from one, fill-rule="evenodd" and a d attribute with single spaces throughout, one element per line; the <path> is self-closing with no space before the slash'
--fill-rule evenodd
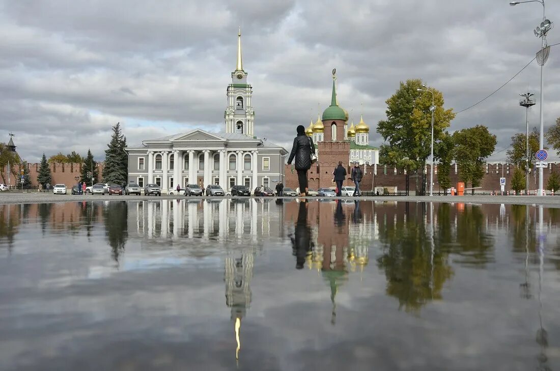
<path id="1" fill-rule="evenodd" d="M 237 62 L 227 86 L 225 132 L 193 129 L 163 138 L 146 139 L 126 148 L 128 181 L 139 186 L 157 184 L 166 192 L 178 184 L 234 185 L 253 190 L 284 181 L 286 149 L 254 135 L 253 87 L 248 83 L 237 34 Z"/>

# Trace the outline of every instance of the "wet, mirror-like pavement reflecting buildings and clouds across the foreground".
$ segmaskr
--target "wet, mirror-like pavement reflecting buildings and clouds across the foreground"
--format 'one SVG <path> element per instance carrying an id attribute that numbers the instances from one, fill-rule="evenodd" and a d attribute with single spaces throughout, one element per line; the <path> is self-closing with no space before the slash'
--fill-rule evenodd
<path id="1" fill-rule="evenodd" d="M 0 369 L 558 369 L 558 226 L 533 205 L 0 205 Z"/>

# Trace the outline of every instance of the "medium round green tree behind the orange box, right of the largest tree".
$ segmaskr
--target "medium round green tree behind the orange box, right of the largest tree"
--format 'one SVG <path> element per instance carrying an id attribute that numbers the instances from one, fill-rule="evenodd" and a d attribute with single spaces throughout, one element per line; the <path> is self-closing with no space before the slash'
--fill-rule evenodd
<path id="1" fill-rule="evenodd" d="M 459 130 L 453 133 L 454 158 L 459 165 L 459 179 L 478 187 L 484 177 L 484 162 L 496 148 L 496 135 L 490 134 L 484 125 Z"/>

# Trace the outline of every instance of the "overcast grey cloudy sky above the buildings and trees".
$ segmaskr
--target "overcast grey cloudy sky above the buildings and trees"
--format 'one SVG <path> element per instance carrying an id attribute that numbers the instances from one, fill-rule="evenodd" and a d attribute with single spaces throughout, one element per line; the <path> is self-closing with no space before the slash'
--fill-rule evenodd
<path id="1" fill-rule="evenodd" d="M 547 0 L 554 14 L 560 4 Z M 534 58 L 541 21 L 539 3 L 507 0 L 0 0 L 0 141 L 12 132 L 20 156 L 38 162 L 88 148 L 104 158 L 117 122 L 129 144 L 223 132 L 241 26 L 258 137 L 290 151 L 296 126 L 330 104 L 336 68 L 339 104 L 354 123 L 363 113 L 379 146 L 377 122 L 400 81 L 421 78 L 444 93 L 446 109 L 463 110 Z M 553 46 L 544 68 L 545 130 L 560 116 L 558 55 Z M 505 159 L 511 136 L 525 132 L 526 91 L 538 101 L 529 124 L 539 126 L 533 62 L 460 112 L 450 131 L 487 125 L 498 142 L 489 160 Z"/>

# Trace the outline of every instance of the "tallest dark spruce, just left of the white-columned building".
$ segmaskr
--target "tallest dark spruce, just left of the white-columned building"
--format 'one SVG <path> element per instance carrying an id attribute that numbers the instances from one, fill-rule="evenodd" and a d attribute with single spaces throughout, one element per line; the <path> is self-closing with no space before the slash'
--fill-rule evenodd
<path id="1" fill-rule="evenodd" d="M 120 123 L 113 126 L 113 135 L 107 147 L 103 179 L 106 183 L 125 184 L 128 178 L 128 154 L 124 151 L 127 138 L 120 131 Z"/>

